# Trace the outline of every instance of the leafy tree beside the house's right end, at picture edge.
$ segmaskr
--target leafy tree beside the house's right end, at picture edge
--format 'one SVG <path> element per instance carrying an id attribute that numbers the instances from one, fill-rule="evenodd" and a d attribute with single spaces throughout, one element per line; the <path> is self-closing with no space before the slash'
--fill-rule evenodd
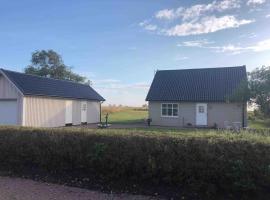
<path id="1" fill-rule="evenodd" d="M 256 68 L 248 74 L 251 101 L 265 117 L 270 117 L 270 66 Z"/>

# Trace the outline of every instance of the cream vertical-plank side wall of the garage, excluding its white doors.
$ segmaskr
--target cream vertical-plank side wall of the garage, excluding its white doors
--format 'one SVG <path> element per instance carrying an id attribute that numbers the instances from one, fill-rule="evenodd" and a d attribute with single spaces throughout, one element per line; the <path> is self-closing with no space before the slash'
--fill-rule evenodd
<path id="1" fill-rule="evenodd" d="M 60 127 L 65 126 L 65 99 L 48 97 L 24 97 L 25 126 Z M 81 124 L 81 102 L 72 100 L 72 123 Z M 87 102 L 87 123 L 99 122 L 100 103 Z"/>

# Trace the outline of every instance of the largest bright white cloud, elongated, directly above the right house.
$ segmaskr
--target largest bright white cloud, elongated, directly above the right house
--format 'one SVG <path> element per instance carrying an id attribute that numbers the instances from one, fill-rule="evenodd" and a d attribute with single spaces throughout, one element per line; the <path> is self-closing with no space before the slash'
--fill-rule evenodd
<path id="1" fill-rule="evenodd" d="M 199 22 L 185 22 L 172 28 L 162 30 L 167 36 L 187 36 L 213 33 L 219 30 L 236 28 L 244 24 L 249 24 L 254 20 L 238 20 L 232 15 L 223 17 L 204 17 Z"/>

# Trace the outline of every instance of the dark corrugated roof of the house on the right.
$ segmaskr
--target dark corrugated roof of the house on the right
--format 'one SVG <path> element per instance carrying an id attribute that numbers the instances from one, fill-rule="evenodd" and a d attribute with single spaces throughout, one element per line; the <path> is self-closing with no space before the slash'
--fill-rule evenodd
<path id="1" fill-rule="evenodd" d="M 161 70 L 146 101 L 224 102 L 246 79 L 245 66 Z"/>

